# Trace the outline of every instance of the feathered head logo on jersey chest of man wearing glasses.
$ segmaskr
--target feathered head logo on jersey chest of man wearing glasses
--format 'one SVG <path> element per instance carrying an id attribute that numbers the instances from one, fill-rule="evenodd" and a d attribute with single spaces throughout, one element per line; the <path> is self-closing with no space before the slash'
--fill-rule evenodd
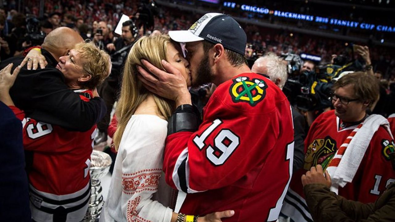
<path id="1" fill-rule="evenodd" d="M 314 139 L 307 148 L 305 154 L 305 170 L 310 170 L 312 166 L 321 165 L 322 169 L 331 162 L 337 151 L 336 141 L 327 136 L 325 139 Z"/>

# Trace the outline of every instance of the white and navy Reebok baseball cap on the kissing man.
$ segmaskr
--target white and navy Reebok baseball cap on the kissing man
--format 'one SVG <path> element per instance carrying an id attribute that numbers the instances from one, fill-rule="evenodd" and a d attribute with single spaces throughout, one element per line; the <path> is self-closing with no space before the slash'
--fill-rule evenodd
<path id="1" fill-rule="evenodd" d="M 207 40 L 221 43 L 224 48 L 245 54 L 247 35 L 235 19 L 221 13 L 203 15 L 188 30 L 169 31 L 169 36 L 177 42 Z"/>

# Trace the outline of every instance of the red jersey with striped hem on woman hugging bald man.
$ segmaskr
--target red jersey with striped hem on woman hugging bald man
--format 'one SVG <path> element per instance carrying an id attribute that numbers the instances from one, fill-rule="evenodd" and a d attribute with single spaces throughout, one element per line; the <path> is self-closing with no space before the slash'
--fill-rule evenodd
<path id="1" fill-rule="evenodd" d="M 83 93 L 92 97 L 91 91 Z M 88 101 L 87 97 L 80 97 Z M 56 221 L 52 214 L 61 206 L 66 208 L 67 221 L 81 220 L 90 198 L 89 167 L 96 126 L 86 132 L 68 131 L 25 117 L 15 106 L 10 108 L 23 123 L 24 149 L 33 152 L 28 174 L 33 219 Z"/>

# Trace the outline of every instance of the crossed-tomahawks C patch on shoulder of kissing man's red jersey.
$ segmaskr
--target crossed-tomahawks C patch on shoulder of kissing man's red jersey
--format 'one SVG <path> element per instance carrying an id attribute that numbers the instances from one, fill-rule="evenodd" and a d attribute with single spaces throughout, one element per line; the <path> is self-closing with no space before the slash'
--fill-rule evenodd
<path id="1" fill-rule="evenodd" d="M 233 79 L 229 92 L 233 102 L 247 102 L 255 106 L 265 98 L 266 88 L 265 81 L 261 79 L 250 80 L 248 77 L 237 77 Z"/>

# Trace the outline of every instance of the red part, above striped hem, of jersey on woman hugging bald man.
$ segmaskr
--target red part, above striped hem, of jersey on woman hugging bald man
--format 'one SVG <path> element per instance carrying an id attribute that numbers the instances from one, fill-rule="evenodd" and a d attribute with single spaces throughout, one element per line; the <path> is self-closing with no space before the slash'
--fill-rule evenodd
<path id="1" fill-rule="evenodd" d="M 90 90 L 83 93 L 92 97 Z M 80 97 L 81 100 L 89 101 L 83 95 Z M 10 108 L 23 123 L 24 149 L 34 153 L 32 169 L 28 175 L 31 186 L 40 192 L 56 196 L 86 188 L 90 180 L 90 154 L 96 125 L 86 132 L 69 131 L 30 119 L 15 106 Z"/>

